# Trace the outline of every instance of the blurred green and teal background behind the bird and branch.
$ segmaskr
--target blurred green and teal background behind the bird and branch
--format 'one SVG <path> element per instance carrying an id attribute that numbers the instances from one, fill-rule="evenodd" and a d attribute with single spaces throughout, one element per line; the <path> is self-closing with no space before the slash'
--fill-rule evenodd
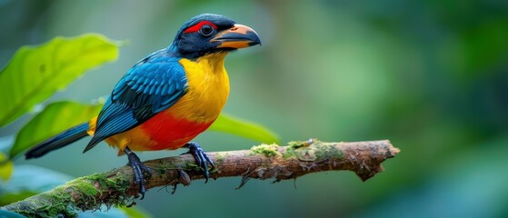
<path id="1" fill-rule="evenodd" d="M 56 35 L 128 39 L 117 62 L 52 97 L 89 103 L 201 13 L 230 16 L 263 42 L 227 57 L 226 113 L 264 124 L 283 142 L 390 139 L 402 152 L 365 183 L 341 172 L 251 180 L 240 190 L 239 178 L 195 181 L 174 195 L 152 189 L 136 203 L 154 217 L 508 216 L 507 1 L 0 0 L 0 64 Z M 205 151 L 257 144 L 214 132 L 195 141 Z M 73 176 L 126 163 L 105 144 L 82 154 L 84 146 L 15 163 Z"/>

